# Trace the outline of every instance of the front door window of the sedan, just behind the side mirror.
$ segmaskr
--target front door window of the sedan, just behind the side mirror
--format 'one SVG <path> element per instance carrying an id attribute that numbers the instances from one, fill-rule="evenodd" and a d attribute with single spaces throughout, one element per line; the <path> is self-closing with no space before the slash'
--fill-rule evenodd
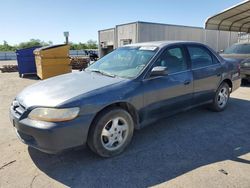
<path id="1" fill-rule="evenodd" d="M 187 62 L 181 47 L 171 47 L 166 49 L 154 64 L 156 66 L 167 67 L 168 73 L 176 73 L 187 70 Z"/>

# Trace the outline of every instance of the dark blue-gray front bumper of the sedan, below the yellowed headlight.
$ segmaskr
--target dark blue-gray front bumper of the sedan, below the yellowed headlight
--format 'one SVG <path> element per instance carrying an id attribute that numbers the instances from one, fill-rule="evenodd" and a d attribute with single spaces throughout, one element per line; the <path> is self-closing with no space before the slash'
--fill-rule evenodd
<path id="1" fill-rule="evenodd" d="M 10 120 L 18 138 L 25 144 L 46 153 L 59 153 L 70 148 L 84 146 L 87 142 L 91 117 L 79 116 L 67 122 L 42 122 L 15 117 L 10 109 Z"/>

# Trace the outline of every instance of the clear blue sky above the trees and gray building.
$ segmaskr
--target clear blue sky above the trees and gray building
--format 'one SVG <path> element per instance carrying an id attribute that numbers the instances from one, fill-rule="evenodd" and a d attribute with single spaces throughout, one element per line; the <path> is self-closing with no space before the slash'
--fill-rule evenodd
<path id="1" fill-rule="evenodd" d="M 0 44 L 30 39 L 98 40 L 98 30 L 146 21 L 204 27 L 206 19 L 242 0 L 2 0 Z"/>

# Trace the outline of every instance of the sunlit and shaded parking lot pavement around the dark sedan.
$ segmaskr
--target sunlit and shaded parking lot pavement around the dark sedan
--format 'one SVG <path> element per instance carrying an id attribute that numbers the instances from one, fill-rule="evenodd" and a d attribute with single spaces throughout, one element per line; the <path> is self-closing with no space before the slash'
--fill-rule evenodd
<path id="1" fill-rule="evenodd" d="M 136 131 L 122 155 L 103 159 L 87 148 L 44 154 L 17 139 L 8 108 L 36 82 L 0 73 L 0 187 L 250 187 L 250 85 L 226 111 L 159 120 Z"/>

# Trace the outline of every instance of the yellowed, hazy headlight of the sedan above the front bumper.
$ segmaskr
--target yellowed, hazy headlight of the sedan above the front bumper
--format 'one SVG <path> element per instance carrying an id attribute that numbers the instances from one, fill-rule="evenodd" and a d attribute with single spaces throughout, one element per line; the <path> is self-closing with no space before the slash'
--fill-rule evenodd
<path id="1" fill-rule="evenodd" d="M 48 121 L 48 122 L 61 122 L 69 121 L 76 118 L 80 109 L 75 108 L 35 108 L 29 113 L 28 118 L 33 120 Z"/>

